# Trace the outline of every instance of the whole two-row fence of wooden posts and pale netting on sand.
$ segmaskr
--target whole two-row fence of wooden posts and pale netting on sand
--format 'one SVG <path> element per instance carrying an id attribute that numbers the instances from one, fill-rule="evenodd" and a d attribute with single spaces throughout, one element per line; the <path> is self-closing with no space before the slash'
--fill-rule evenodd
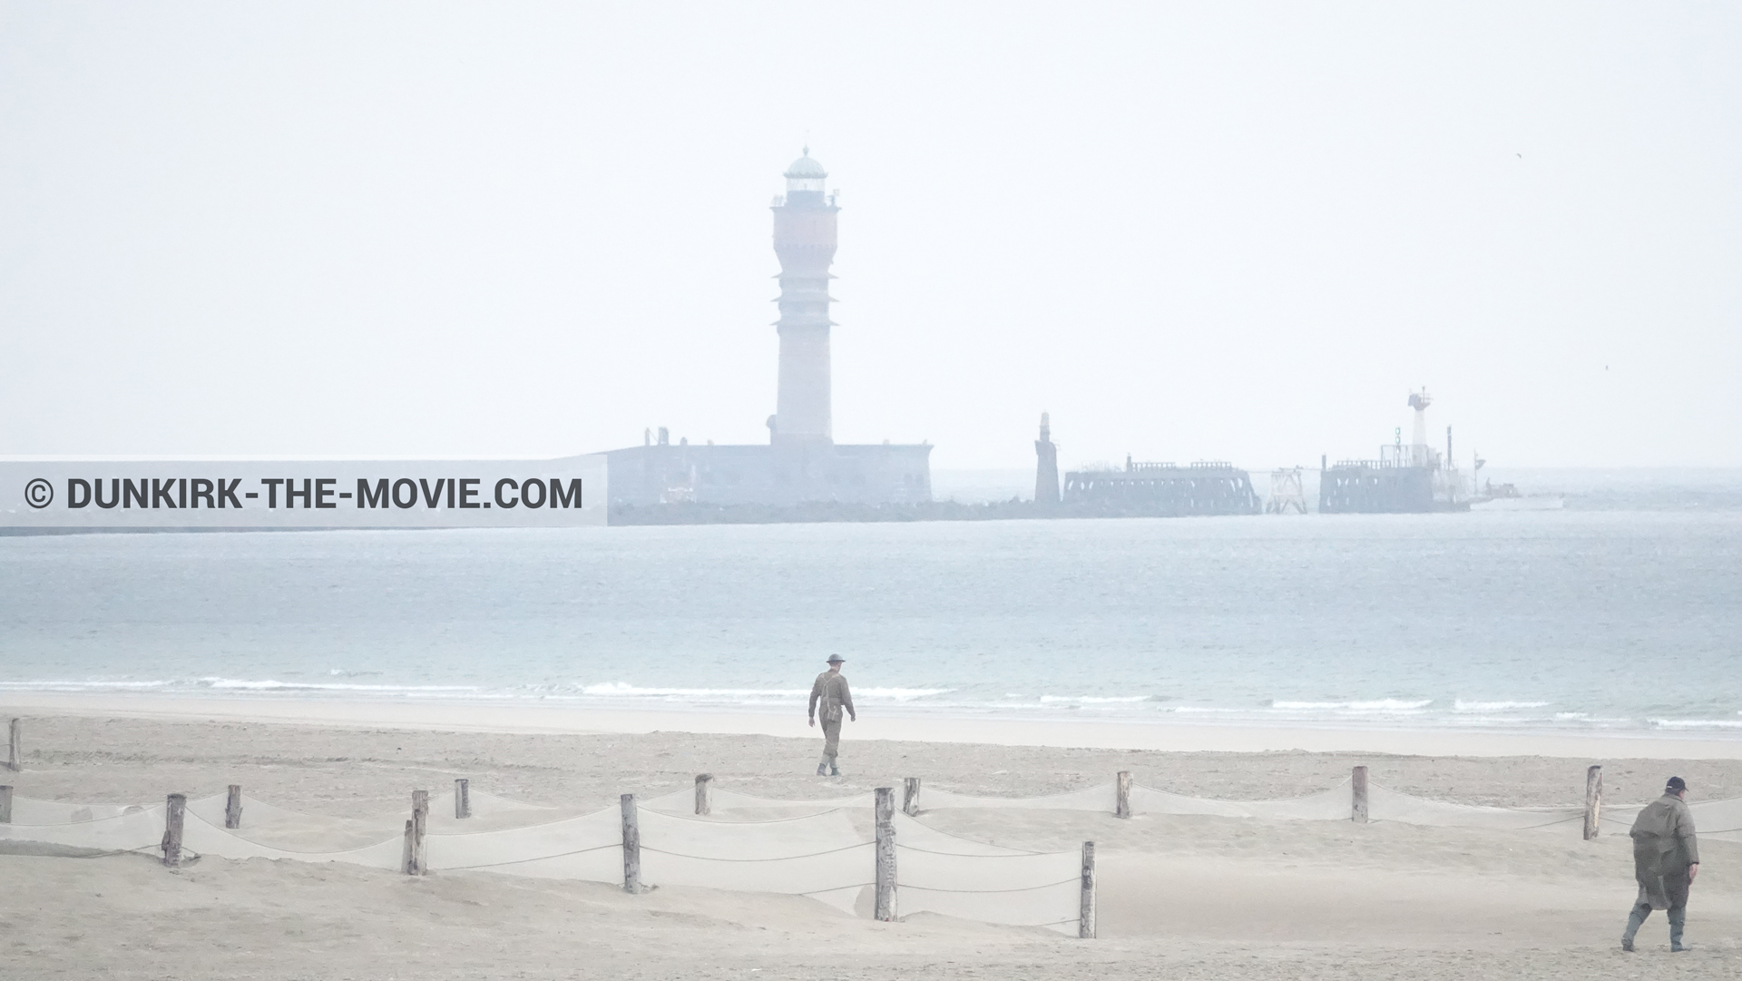
<path id="1" fill-rule="evenodd" d="M 1371 782 L 1366 767 L 1324 791 L 1261 802 L 1151 789 L 1134 784 L 1129 772 L 1108 784 L 1031 798 L 963 795 L 908 779 L 899 808 L 894 788 L 834 800 L 777 800 L 712 784 L 714 777 L 702 774 L 693 791 L 645 802 L 624 795 L 620 807 L 577 812 L 496 796 L 462 779 L 451 798 L 415 791 L 409 808 L 371 819 L 298 812 L 253 798 L 237 784 L 225 795 L 192 802 L 171 795 L 157 805 L 35 800 L 0 786 L 0 843 L 30 842 L 66 854 L 143 852 L 169 866 L 202 857 L 267 857 L 404 875 L 491 871 L 608 882 L 629 892 L 646 885 L 777 892 L 880 920 L 939 913 L 1092 937 L 1094 842 L 1084 842 L 1080 852 L 1035 852 L 949 833 L 922 819 L 956 808 L 1021 808 L 1115 821 L 1195 814 L 1533 833 L 1582 824 L 1590 840 L 1604 828 L 1631 824 L 1639 810 L 1603 803 L 1601 767 L 1587 772 L 1583 805 L 1531 808 L 1392 791 Z M 1742 835 L 1742 800 L 1695 802 L 1690 808 L 1697 826 L 1719 828 L 1702 835 Z"/>

